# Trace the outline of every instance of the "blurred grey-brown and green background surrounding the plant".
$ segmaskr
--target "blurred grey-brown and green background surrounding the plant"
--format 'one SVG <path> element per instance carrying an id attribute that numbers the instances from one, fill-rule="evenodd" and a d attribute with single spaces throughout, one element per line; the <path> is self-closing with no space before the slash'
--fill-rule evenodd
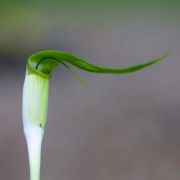
<path id="1" fill-rule="evenodd" d="M 130 75 L 58 68 L 51 80 L 42 180 L 180 179 L 180 1 L 31 0 L 0 5 L 0 179 L 29 179 L 21 123 L 27 57 L 59 49 Z"/>

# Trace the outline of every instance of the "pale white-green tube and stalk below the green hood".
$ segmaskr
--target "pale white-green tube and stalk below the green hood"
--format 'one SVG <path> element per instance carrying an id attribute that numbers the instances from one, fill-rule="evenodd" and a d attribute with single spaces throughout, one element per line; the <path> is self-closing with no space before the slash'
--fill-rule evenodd
<path id="1" fill-rule="evenodd" d="M 27 69 L 23 88 L 23 126 L 31 180 L 40 180 L 41 143 L 47 118 L 49 79 Z"/>

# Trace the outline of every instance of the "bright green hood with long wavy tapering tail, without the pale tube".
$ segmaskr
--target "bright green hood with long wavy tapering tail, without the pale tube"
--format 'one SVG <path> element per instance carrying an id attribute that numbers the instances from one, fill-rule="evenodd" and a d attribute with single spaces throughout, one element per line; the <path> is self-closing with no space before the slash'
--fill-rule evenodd
<path id="1" fill-rule="evenodd" d="M 90 64 L 89 62 L 77 56 L 74 56 L 70 53 L 66 53 L 63 51 L 44 50 L 31 55 L 28 59 L 28 66 L 30 66 L 32 69 L 46 76 L 49 76 L 52 70 L 59 64 L 68 67 L 66 63 L 69 63 L 71 65 L 76 66 L 79 69 L 82 69 L 84 71 L 89 71 L 92 73 L 128 74 L 141 70 L 150 65 L 153 65 L 165 59 L 168 56 L 168 54 L 169 51 L 158 58 L 126 68 L 108 68 L 108 67 L 97 66 L 95 64 Z"/>

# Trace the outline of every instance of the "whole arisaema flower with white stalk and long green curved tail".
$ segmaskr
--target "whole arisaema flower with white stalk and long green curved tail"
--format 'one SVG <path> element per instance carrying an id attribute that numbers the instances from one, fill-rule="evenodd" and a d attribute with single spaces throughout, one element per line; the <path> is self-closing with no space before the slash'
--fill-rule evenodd
<path id="1" fill-rule="evenodd" d="M 47 120 L 49 79 L 58 65 L 71 72 L 69 64 L 92 73 L 128 74 L 165 59 L 168 53 L 127 68 L 107 68 L 91 64 L 77 56 L 55 50 L 37 52 L 28 58 L 23 88 L 23 127 L 28 147 L 30 178 L 40 180 L 41 144 Z"/>

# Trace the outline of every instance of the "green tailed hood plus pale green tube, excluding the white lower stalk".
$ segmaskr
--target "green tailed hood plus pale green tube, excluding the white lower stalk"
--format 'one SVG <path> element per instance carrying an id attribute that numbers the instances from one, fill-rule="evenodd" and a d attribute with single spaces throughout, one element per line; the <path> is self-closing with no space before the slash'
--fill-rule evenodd
<path id="1" fill-rule="evenodd" d="M 23 122 L 24 124 L 31 123 L 43 129 L 45 128 L 49 77 L 53 69 L 58 65 L 64 65 L 70 69 L 66 64 L 68 63 L 93 73 L 127 74 L 155 64 L 166 58 L 167 55 L 168 52 L 158 58 L 127 68 L 107 68 L 90 64 L 77 56 L 63 51 L 44 50 L 37 52 L 28 58 L 23 90 Z"/>

